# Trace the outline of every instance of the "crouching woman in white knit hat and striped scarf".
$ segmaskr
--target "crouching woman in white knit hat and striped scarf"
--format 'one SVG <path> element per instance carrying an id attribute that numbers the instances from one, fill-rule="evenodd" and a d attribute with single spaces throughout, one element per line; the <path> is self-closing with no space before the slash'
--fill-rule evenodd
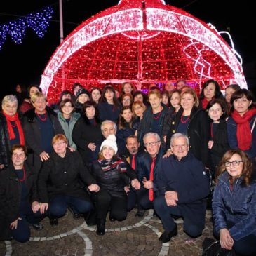
<path id="1" fill-rule="evenodd" d="M 125 220 L 127 216 L 127 195 L 125 186 L 131 184 L 140 189 L 133 169 L 116 156 L 117 145 L 115 135 L 109 135 L 100 146 L 100 156 L 93 163 L 91 173 L 95 177 L 100 191 L 93 194 L 97 215 L 97 235 L 105 234 L 106 216 L 109 211 L 109 220 Z"/>

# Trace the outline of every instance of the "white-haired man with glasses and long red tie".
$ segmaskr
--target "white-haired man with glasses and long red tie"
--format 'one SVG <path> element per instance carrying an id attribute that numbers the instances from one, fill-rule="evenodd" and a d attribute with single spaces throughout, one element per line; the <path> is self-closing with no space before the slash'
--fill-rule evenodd
<path id="1" fill-rule="evenodd" d="M 142 188 L 136 191 L 139 205 L 143 210 L 138 208 L 137 217 L 144 215 L 145 209 L 153 208 L 154 197 L 156 196 L 155 180 L 158 175 L 158 163 L 162 158 L 161 139 L 157 133 L 146 133 L 143 137 L 144 152 L 137 158 L 137 177 L 142 182 Z"/>

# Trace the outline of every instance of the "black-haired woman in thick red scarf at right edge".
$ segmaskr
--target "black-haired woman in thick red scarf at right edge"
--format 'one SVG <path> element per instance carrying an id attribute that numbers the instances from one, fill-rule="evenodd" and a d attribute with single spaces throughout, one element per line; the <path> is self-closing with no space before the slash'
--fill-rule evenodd
<path id="1" fill-rule="evenodd" d="M 231 149 L 241 149 L 250 157 L 256 156 L 256 108 L 250 90 L 237 90 L 231 97 L 231 116 L 227 134 Z"/>

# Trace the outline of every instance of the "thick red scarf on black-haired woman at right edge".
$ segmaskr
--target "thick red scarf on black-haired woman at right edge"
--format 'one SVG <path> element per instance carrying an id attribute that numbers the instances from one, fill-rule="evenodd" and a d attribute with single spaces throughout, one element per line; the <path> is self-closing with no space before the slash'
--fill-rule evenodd
<path id="1" fill-rule="evenodd" d="M 236 137 L 238 141 L 238 149 L 248 150 L 252 144 L 252 133 L 250 131 L 250 119 L 256 114 L 256 109 L 249 109 L 243 116 L 236 110 L 231 116 L 237 124 Z"/>

